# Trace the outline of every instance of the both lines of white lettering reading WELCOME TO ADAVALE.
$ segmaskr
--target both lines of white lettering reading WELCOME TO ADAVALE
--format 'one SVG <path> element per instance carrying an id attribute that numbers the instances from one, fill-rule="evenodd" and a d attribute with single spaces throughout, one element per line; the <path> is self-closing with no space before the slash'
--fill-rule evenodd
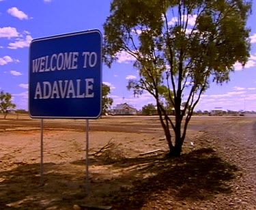
<path id="1" fill-rule="evenodd" d="M 81 56 L 81 57 L 79 57 Z M 76 70 L 78 59 L 83 59 L 82 68 L 94 67 L 97 64 L 96 52 L 60 52 L 32 60 L 32 72 L 54 72 L 59 70 Z M 34 99 L 63 99 L 94 97 L 94 78 L 77 78 L 76 80 L 55 80 L 37 82 Z"/>

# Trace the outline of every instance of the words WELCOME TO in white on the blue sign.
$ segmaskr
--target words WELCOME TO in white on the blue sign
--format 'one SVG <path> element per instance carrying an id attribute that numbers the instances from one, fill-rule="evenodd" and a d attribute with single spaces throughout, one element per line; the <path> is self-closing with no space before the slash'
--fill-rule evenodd
<path id="1" fill-rule="evenodd" d="M 83 68 L 94 67 L 97 64 L 96 52 L 60 52 L 32 60 L 32 72 L 54 72 L 55 70 L 76 70 L 79 59 L 83 59 Z"/>

